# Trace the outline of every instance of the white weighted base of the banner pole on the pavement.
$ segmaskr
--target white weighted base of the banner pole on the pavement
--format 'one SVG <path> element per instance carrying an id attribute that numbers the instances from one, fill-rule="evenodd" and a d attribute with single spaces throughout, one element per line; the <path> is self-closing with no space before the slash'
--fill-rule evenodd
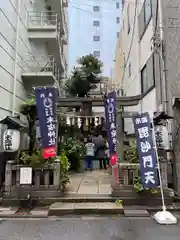
<path id="1" fill-rule="evenodd" d="M 177 224 L 177 218 L 174 217 L 170 212 L 163 210 L 154 214 L 154 219 L 157 223 L 162 225 Z"/>

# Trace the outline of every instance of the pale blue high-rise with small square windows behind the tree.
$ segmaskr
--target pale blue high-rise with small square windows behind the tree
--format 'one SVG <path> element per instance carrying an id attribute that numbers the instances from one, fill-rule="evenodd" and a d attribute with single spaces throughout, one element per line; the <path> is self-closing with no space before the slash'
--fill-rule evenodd
<path id="1" fill-rule="evenodd" d="M 73 0 L 68 12 L 69 72 L 79 57 L 91 53 L 103 62 L 103 76 L 110 77 L 119 37 L 121 1 Z"/>

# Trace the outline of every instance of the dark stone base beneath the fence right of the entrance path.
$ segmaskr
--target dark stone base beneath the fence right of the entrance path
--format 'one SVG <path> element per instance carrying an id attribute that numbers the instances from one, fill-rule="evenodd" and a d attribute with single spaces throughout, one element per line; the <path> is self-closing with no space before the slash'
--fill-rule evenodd
<path id="1" fill-rule="evenodd" d="M 116 197 L 123 201 L 123 205 L 161 205 L 161 194 L 151 194 L 147 192 L 136 193 L 133 186 L 112 186 L 112 197 Z M 171 190 L 164 190 L 165 204 L 171 205 L 173 198 L 171 197 Z"/>

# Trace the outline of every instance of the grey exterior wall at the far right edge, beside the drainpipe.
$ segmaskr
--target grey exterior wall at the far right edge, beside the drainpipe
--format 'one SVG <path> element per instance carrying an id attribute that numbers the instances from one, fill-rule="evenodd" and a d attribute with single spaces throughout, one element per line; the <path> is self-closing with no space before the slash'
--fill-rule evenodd
<path id="1" fill-rule="evenodd" d="M 163 1 L 163 22 L 165 40 L 165 68 L 166 68 L 166 97 L 162 95 L 163 104 L 167 101 L 167 111 L 174 117 L 173 121 L 173 148 L 176 173 L 176 188 L 180 192 L 180 108 L 172 106 L 173 97 L 180 97 L 180 2 Z"/>

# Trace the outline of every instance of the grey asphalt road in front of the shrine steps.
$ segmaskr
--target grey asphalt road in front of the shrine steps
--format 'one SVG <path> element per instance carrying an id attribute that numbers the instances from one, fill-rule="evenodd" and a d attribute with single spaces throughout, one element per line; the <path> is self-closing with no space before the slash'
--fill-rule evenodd
<path id="1" fill-rule="evenodd" d="M 148 218 L 0 220 L 0 240 L 179 240 L 180 224 L 161 226 Z"/>

